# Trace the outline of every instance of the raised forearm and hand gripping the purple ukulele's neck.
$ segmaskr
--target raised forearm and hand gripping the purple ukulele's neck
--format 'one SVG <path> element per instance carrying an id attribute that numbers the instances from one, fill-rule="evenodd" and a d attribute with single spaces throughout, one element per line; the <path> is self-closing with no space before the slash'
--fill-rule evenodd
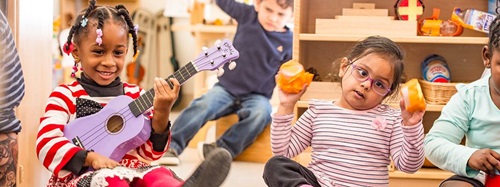
<path id="1" fill-rule="evenodd" d="M 153 117 L 151 120 L 152 135 L 142 146 L 137 148 L 137 152 L 146 160 L 157 160 L 161 158 L 167 150 L 170 139 L 170 111 L 177 100 L 180 83 L 175 79 L 170 79 L 174 88 L 161 78 L 155 78 L 153 101 Z"/>

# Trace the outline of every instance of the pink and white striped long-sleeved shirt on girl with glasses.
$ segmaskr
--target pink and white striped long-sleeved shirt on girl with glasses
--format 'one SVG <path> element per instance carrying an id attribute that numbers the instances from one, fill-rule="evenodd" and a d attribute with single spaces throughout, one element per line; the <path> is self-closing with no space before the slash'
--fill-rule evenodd
<path id="1" fill-rule="evenodd" d="M 391 158 L 407 173 L 424 162 L 422 124 L 402 126 L 401 112 L 384 104 L 355 111 L 316 100 L 292 120 L 273 115 L 272 151 L 292 158 L 311 146 L 308 168 L 322 186 L 387 186 Z"/>

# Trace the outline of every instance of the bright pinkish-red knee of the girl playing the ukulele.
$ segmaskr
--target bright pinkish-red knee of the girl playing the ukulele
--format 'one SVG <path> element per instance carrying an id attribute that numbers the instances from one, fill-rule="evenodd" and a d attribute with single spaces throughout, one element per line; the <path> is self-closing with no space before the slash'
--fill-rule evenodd
<path id="1" fill-rule="evenodd" d="M 183 183 L 170 169 L 159 167 L 148 172 L 142 179 L 135 179 L 130 186 L 179 187 Z"/>

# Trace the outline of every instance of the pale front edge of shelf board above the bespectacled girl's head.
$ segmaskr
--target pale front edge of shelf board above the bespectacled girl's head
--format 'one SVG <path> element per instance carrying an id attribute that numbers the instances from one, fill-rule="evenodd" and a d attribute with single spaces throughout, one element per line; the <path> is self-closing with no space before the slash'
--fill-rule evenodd
<path id="1" fill-rule="evenodd" d="M 366 36 L 331 35 L 331 34 L 299 34 L 300 41 L 335 41 L 357 42 Z M 436 43 L 436 44 L 478 44 L 488 43 L 488 37 L 431 37 L 431 36 L 386 36 L 399 43 Z"/>

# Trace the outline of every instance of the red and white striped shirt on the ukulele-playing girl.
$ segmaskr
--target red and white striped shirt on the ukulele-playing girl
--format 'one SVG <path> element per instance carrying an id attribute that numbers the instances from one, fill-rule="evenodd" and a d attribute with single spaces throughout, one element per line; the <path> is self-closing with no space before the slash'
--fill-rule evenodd
<path id="1" fill-rule="evenodd" d="M 144 93 L 136 85 L 123 83 L 125 95 L 135 99 Z M 83 87 L 74 81 L 68 85 L 61 85 L 51 93 L 45 108 L 45 114 L 40 118 L 40 126 L 36 140 L 38 159 L 53 173 L 53 181 L 67 181 L 74 178 L 70 171 L 62 169 L 68 161 L 82 148 L 75 146 L 63 136 L 64 126 L 76 118 L 76 98 L 85 98 L 101 103 L 104 107 L 115 97 L 90 97 Z M 144 166 L 140 160 L 157 160 L 166 151 L 153 150 L 153 144 L 148 140 L 143 145 L 129 151 L 120 164 L 126 167 Z"/>

